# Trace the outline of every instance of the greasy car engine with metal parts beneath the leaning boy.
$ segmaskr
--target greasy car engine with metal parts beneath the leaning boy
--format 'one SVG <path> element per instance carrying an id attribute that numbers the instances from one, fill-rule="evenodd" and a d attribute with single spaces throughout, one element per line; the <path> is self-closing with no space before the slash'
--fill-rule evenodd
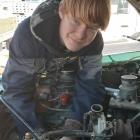
<path id="1" fill-rule="evenodd" d="M 61 128 L 70 115 L 74 95 L 74 76 L 73 67 L 67 66 L 55 73 L 46 72 L 38 76 L 34 97 L 36 112 L 46 118 L 48 126 L 46 132 L 41 134 L 31 130 L 1 98 L 10 112 L 29 128 L 25 140 L 59 139 L 62 136 L 91 140 L 140 139 L 139 61 L 104 65 L 102 79 L 107 93 L 106 107 L 93 104 L 83 116 L 82 130 L 64 130 Z"/>

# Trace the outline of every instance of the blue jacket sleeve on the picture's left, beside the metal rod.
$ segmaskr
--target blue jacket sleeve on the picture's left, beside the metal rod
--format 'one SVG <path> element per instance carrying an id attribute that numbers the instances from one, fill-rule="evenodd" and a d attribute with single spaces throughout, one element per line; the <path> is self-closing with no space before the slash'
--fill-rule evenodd
<path id="1" fill-rule="evenodd" d="M 35 115 L 36 58 L 31 48 L 36 45 L 26 28 L 27 23 L 18 26 L 10 44 L 9 59 L 2 76 L 5 101 L 32 127 L 39 126 Z M 30 52 L 31 55 L 30 55 Z M 27 130 L 25 130 L 27 131 Z"/>

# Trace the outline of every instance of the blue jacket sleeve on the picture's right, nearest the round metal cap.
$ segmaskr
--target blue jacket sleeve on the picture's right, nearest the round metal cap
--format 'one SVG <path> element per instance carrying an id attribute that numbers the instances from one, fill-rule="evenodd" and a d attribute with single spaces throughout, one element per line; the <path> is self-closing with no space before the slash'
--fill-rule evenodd
<path id="1" fill-rule="evenodd" d="M 76 77 L 75 96 L 71 107 L 72 118 L 82 122 L 83 114 L 93 104 L 102 104 L 105 98 L 101 82 L 101 55 L 82 56 Z"/>

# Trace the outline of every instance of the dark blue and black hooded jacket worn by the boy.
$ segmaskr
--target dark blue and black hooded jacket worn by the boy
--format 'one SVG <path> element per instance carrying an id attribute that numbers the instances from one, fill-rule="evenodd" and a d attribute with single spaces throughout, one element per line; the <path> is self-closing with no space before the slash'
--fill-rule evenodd
<path id="1" fill-rule="evenodd" d="M 101 84 L 102 35 L 98 32 L 95 40 L 78 52 L 68 51 L 59 41 L 58 4 L 54 0 L 43 2 L 31 17 L 18 25 L 2 77 L 4 99 L 33 128 L 40 124 L 32 100 L 37 74 L 47 70 L 54 59 L 80 57 L 71 118 L 82 121 L 83 113 L 89 111 L 92 104 L 104 100 Z"/>

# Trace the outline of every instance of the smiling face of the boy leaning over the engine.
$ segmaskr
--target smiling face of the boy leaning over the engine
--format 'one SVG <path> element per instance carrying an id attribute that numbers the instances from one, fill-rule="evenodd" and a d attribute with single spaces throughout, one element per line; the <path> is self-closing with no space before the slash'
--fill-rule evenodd
<path id="1" fill-rule="evenodd" d="M 70 13 L 59 10 L 60 38 L 62 43 L 70 51 L 76 52 L 87 47 L 96 37 L 98 28 L 88 27 L 79 19 L 74 19 Z"/>

